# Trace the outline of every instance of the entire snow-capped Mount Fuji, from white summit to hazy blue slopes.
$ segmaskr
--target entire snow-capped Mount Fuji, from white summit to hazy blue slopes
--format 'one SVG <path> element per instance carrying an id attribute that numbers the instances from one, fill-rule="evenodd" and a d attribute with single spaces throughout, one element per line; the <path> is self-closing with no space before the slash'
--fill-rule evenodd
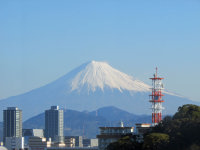
<path id="1" fill-rule="evenodd" d="M 0 111 L 19 107 L 23 110 L 23 119 L 52 105 L 79 111 L 115 106 L 135 114 L 150 114 L 150 88 L 106 62 L 91 61 L 43 87 L 1 100 Z M 165 92 L 164 99 L 164 114 L 173 114 L 183 104 L 199 104 L 169 92 Z"/>

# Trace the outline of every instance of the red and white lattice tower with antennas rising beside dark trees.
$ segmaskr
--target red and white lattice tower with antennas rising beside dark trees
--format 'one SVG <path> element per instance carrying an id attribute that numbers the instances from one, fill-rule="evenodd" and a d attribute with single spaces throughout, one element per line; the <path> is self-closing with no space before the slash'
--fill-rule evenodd
<path id="1" fill-rule="evenodd" d="M 158 69 L 156 67 L 156 73 L 154 74 L 153 78 L 150 78 L 152 80 L 152 94 L 150 96 L 150 102 L 152 104 L 152 126 L 157 125 L 162 120 L 162 110 L 164 109 L 162 107 L 162 103 L 164 100 L 162 97 L 164 96 L 162 94 L 163 90 L 163 84 L 162 79 L 158 77 Z"/>

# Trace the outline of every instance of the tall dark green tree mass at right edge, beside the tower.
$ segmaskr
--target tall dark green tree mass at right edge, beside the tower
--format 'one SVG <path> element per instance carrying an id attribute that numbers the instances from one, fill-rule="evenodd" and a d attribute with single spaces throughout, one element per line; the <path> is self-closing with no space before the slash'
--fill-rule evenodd
<path id="1" fill-rule="evenodd" d="M 184 150 L 191 145 L 200 145 L 200 107 L 192 104 L 179 107 L 173 117 L 164 118 L 152 132 L 168 134 L 168 147 L 171 150 Z"/>

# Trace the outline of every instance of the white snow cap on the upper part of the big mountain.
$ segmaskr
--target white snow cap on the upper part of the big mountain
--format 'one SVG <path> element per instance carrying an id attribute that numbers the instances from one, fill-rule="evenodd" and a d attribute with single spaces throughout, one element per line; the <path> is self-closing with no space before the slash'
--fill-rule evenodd
<path id="1" fill-rule="evenodd" d="M 87 88 L 88 92 L 102 91 L 104 88 L 146 92 L 150 86 L 133 77 L 112 68 L 106 62 L 91 61 L 71 79 L 71 91 L 81 91 Z"/>

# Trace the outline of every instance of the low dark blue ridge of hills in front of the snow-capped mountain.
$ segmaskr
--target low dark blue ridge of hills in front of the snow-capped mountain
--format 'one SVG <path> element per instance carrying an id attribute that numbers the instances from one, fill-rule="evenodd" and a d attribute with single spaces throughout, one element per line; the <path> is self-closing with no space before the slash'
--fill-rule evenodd
<path id="1" fill-rule="evenodd" d="M 123 121 L 125 126 L 151 122 L 151 116 L 134 115 L 116 107 L 100 108 L 97 112 L 96 115 L 96 111 L 64 110 L 64 134 L 95 138 L 100 126 L 117 126 L 120 121 Z M 44 113 L 26 120 L 23 128 L 44 128 Z"/>

